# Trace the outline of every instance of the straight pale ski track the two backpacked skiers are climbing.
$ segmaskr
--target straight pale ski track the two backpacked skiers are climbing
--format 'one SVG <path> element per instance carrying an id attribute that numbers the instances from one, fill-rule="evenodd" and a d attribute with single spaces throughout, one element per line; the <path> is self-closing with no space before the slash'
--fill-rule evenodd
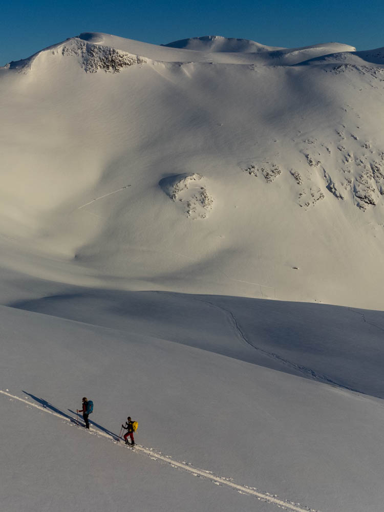
<path id="1" fill-rule="evenodd" d="M 61 420 L 67 420 L 67 421 L 73 422 L 75 424 L 77 423 L 76 418 L 68 419 L 65 416 L 62 416 L 61 414 L 57 414 L 57 413 L 55 413 L 53 411 L 49 411 L 48 409 L 46 409 L 44 407 L 38 406 L 35 403 L 32 403 L 32 402 L 30 402 L 28 400 L 25 400 L 24 398 L 19 398 L 18 396 L 12 395 L 11 393 L 8 393 L 8 392 L 3 391 L 3 390 L 0 390 L 0 393 L 3 396 L 7 396 L 7 397 L 9 397 L 11 399 L 13 398 L 15 400 L 19 400 L 20 402 L 27 403 L 29 406 L 35 407 L 36 409 L 39 409 L 40 411 L 52 414 L 53 416 L 56 416 L 56 417 L 60 418 Z M 93 431 L 93 432 L 96 432 L 98 436 L 102 436 L 102 437 L 105 437 L 105 438 L 111 440 L 111 435 L 109 435 L 109 434 L 106 434 L 106 433 L 101 432 L 101 431 L 96 430 L 96 429 L 90 429 L 90 430 Z M 120 439 L 118 439 L 117 435 L 116 435 L 115 440 L 118 441 L 118 442 L 120 441 Z M 223 477 L 217 477 L 215 475 L 212 475 L 208 471 L 199 470 L 199 469 L 197 469 L 195 467 L 188 466 L 185 463 L 178 462 L 177 460 L 174 460 L 174 459 L 171 459 L 171 458 L 166 457 L 164 455 L 161 455 L 161 454 L 155 452 L 154 450 L 150 450 L 148 448 L 145 448 L 144 446 L 140 446 L 140 445 L 135 444 L 135 451 L 136 452 L 137 451 L 143 452 L 145 455 L 149 455 L 152 459 L 154 459 L 154 458 L 155 459 L 159 459 L 159 460 L 162 460 L 164 462 L 167 462 L 168 464 L 170 464 L 170 465 L 172 465 L 174 467 L 175 466 L 179 467 L 182 470 L 185 470 L 185 471 L 188 471 L 189 473 L 192 473 L 194 476 L 199 475 L 201 477 L 208 478 L 209 480 L 211 480 L 213 482 L 217 482 L 219 484 L 223 484 L 223 485 L 227 485 L 228 487 L 232 487 L 233 489 L 236 489 L 241 494 L 248 494 L 248 495 L 251 495 L 251 496 L 255 496 L 258 499 L 260 499 L 260 500 L 262 500 L 262 501 L 264 501 L 266 503 L 270 503 L 270 504 L 276 505 L 276 506 L 278 506 L 280 508 L 283 508 L 285 510 L 294 510 L 294 512 L 320 512 L 320 510 L 316 510 L 314 508 L 302 507 L 302 506 L 299 506 L 298 504 L 294 504 L 294 503 L 290 503 L 290 502 L 284 501 L 282 499 L 279 499 L 275 495 L 271 496 L 271 495 L 266 494 L 266 493 L 261 493 L 258 490 L 255 490 L 253 488 L 250 488 L 250 487 L 247 487 L 247 486 L 244 486 L 244 485 L 240 485 L 240 484 L 231 482 L 231 481 L 229 481 L 229 480 L 227 480 L 227 479 L 225 479 Z"/>

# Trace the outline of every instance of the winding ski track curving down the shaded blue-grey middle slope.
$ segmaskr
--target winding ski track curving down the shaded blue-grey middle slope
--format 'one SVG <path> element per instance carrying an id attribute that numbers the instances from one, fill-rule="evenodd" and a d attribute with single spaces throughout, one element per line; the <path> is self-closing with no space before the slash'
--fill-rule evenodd
<path id="1" fill-rule="evenodd" d="M 349 388 L 348 386 L 340 384 L 339 382 L 336 382 L 336 381 L 332 380 L 330 377 L 327 377 L 327 375 L 323 375 L 321 373 L 317 373 L 314 370 L 312 370 L 311 368 L 307 368 L 306 366 L 297 365 L 295 362 L 289 361 L 288 359 L 285 359 L 284 357 L 281 357 L 280 355 L 275 354 L 274 352 L 268 352 L 267 350 L 264 350 L 264 349 L 262 349 L 260 347 L 257 347 L 255 345 L 253 345 L 249 341 L 249 339 L 246 337 L 244 332 L 242 331 L 242 329 L 241 329 L 241 327 L 240 327 L 236 317 L 232 313 L 232 311 L 230 311 L 229 309 L 224 308 L 223 306 L 218 306 L 217 304 L 214 304 L 212 302 L 203 301 L 200 298 L 196 298 L 195 300 L 197 300 L 199 302 L 204 302 L 205 304 L 208 304 L 208 305 L 210 305 L 210 306 L 212 306 L 214 308 L 217 308 L 217 309 L 219 309 L 221 311 L 224 311 L 224 313 L 229 317 L 229 321 L 232 324 L 233 329 L 237 332 L 238 337 L 243 341 L 243 343 L 245 343 L 246 345 L 248 345 L 252 349 L 257 350 L 257 351 L 261 352 L 262 354 L 264 354 L 264 355 L 266 355 L 268 357 L 272 357 L 273 359 L 278 360 L 279 362 L 283 363 L 283 365 L 288 366 L 289 368 L 292 368 L 293 370 L 296 370 L 297 372 L 300 372 L 301 374 L 305 375 L 306 377 L 310 377 L 313 380 L 318 380 L 318 381 L 324 382 L 326 384 L 329 384 L 330 386 L 334 386 L 334 387 L 337 387 L 337 388 L 343 388 L 343 389 L 346 389 L 348 391 L 352 391 L 352 392 L 355 392 L 355 393 L 365 394 L 362 391 L 359 391 L 359 390 L 353 389 L 353 388 Z M 364 321 L 367 322 L 365 317 L 364 317 L 364 315 L 362 315 L 362 316 L 364 318 Z M 369 322 L 367 322 L 367 323 L 369 323 Z M 373 325 L 373 324 L 371 324 L 371 325 Z M 374 327 L 377 327 L 377 326 L 374 326 Z M 378 327 L 378 329 L 381 329 L 381 328 Z"/>

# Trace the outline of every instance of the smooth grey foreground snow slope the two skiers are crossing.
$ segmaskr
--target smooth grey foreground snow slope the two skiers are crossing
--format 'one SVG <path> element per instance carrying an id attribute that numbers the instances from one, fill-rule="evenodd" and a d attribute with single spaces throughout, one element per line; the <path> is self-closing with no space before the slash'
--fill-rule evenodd
<path id="1" fill-rule="evenodd" d="M 95 402 L 96 431 L 118 434 L 131 415 L 140 445 L 302 507 L 380 509 L 380 401 L 135 334 L 132 326 L 103 328 L 5 307 L 0 314 L 4 391 L 72 417 L 85 394 Z M 194 318 L 209 340 L 209 319 Z M 239 343 L 232 338 L 234 349 Z M 78 509 L 118 510 L 127 499 L 138 510 L 203 510 L 210 503 L 214 510 L 276 509 L 225 485 L 197 483 L 145 453 L 116 451 L 112 435 L 92 438 L 65 417 L 0 399 L 8 440 L 2 460 L 12 454 L 17 461 L 3 481 L 7 510 L 23 509 L 26 500 L 29 510 L 68 510 L 74 500 Z"/>

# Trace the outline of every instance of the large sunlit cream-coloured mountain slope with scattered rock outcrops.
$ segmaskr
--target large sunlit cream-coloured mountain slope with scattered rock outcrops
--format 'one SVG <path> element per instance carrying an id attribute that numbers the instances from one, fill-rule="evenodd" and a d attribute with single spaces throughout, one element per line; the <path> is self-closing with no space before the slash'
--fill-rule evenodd
<path id="1" fill-rule="evenodd" d="M 209 51 L 82 34 L 2 70 L 2 264 L 381 309 L 382 67 Z"/>

